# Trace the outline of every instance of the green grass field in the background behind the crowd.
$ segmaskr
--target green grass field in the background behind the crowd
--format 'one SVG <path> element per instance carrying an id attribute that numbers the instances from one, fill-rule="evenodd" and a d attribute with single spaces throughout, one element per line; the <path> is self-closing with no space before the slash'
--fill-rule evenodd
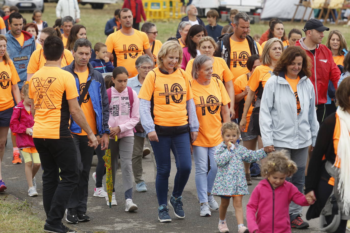
<path id="1" fill-rule="evenodd" d="M 83 24 L 86 27 L 87 38 L 91 41 L 92 46 L 97 42 L 105 43 L 107 36 L 104 34 L 104 29 L 106 22 L 113 17 L 114 10 L 121 8 L 121 4 L 110 4 L 105 5 L 103 9 L 92 9 L 91 5 L 86 4 L 85 6 L 79 5 L 81 21 L 79 24 Z M 45 3 L 45 11 L 43 13 L 42 20 L 47 21 L 49 27 L 52 27 L 56 20 L 55 13 L 56 3 Z M 31 22 L 31 13 L 23 13 L 23 16 L 27 19 L 27 22 Z M 203 19 L 206 23 L 206 19 Z M 159 31 L 157 39 L 162 42 L 165 42 L 167 38 L 176 35 L 176 29 L 179 25 L 180 20 L 170 20 L 170 22 L 154 22 Z M 226 25 L 228 22 L 219 22 L 221 25 Z M 302 29 L 304 23 L 284 23 L 286 34 L 292 28 Z M 348 45 L 350 46 L 350 29 L 343 26 L 335 26 L 334 24 L 326 24 L 330 30 L 339 30 L 343 33 L 346 38 Z M 268 24 L 258 23 L 251 24 L 251 35 L 262 34 L 268 28 Z M 323 38 L 322 43 L 325 44 L 329 31 L 325 31 L 325 37 Z"/>

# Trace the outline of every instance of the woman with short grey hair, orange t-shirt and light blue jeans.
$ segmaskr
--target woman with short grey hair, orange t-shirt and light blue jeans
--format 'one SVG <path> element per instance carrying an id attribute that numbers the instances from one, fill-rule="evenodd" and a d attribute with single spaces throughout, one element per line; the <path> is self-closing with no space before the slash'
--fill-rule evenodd
<path id="1" fill-rule="evenodd" d="M 192 143 L 193 158 L 196 167 L 196 188 L 201 203 L 200 216 L 211 216 L 211 210 L 219 209 L 211 189 L 217 173 L 214 152 L 222 141 L 221 132 L 217 130 L 223 122 L 230 122 L 228 103 L 231 102 L 224 84 L 212 77 L 213 63 L 206 55 L 197 56 L 193 61 L 190 80 L 196 114 L 200 123 L 197 140 Z M 210 170 L 208 171 L 208 158 Z"/>

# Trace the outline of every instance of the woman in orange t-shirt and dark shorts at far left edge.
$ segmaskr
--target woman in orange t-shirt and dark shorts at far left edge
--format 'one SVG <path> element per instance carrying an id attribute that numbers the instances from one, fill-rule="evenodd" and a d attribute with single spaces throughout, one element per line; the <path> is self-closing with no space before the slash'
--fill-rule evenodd
<path id="1" fill-rule="evenodd" d="M 17 85 L 20 78 L 12 60 L 6 52 L 6 44 L 6 37 L 0 35 L 0 145 L 6 144 L 8 128 L 10 126 L 13 107 L 15 105 L 12 95 L 14 96 L 16 103 L 21 101 L 20 90 Z M 6 189 L 6 185 L 1 177 L 1 161 L 4 153 L 5 146 L 2 146 L 0 148 L 0 192 L 5 191 Z M 19 160 L 21 160 L 20 157 Z"/>

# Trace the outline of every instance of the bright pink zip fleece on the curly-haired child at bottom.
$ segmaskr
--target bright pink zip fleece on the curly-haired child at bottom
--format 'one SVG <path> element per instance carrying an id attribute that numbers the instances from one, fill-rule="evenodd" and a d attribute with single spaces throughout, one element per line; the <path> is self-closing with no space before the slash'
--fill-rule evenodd
<path id="1" fill-rule="evenodd" d="M 288 181 L 276 189 L 272 188 L 267 179 L 260 181 L 254 188 L 247 204 L 249 232 L 292 232 L 289 218 L 289 203 L 291 201 L 301 206 L 309 205 L 305 196 Z"/>

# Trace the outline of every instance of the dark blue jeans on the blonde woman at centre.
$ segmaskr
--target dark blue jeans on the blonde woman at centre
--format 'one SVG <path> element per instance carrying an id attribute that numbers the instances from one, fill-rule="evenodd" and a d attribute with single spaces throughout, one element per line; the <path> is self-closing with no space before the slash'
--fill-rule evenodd
<path id="1" fill-rule="evenodd" d="M 190 134 L 173 134 L 158 136 L 159 142 L 151 141 L 154 158 L 157 163 L 155 189 L 158 204 L 166 205 L 168 198 L 168 183 L 171 168 L 170 149 L 175 156 L 177 172 L 174 180 L 173 197 L 180 197 L 191 173 Z"/>

